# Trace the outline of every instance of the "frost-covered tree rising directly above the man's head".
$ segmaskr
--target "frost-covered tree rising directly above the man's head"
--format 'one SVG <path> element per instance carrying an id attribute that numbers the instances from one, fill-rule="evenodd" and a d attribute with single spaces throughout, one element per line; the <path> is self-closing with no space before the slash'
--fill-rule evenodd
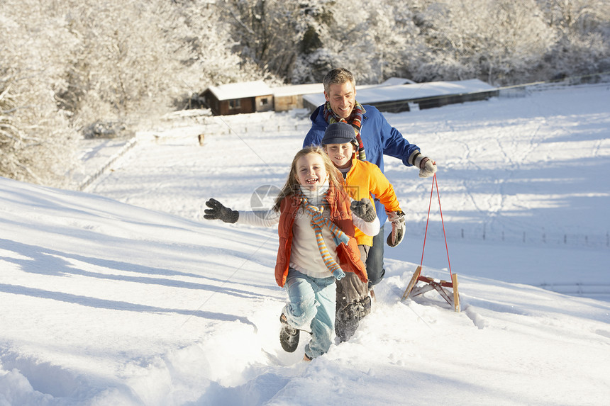
<path id="1" fill-rule="evenodd" d="M 372 0 L 324 2 L 309 30 L 316 47 L 301 52 L 292 76 L 321 81 L 328 70 L 346 67 L 360 84 L 375 84 L 405 72 L 417 47 L 418 29 L 404 4 Z M 307 74 L 309 73 L 309 77 Z"/>

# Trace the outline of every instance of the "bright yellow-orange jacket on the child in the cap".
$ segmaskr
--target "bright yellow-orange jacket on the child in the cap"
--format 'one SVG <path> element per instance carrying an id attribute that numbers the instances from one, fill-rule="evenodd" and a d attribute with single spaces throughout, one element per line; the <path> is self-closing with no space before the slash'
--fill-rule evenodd
<path id="1" fill-rule="evenodd" d="M 352 167 L 345 176 L 345 190 L 354 200 L 369 198 L 375 205 L 372 194 L 385 206 L 386 211 L 400 210 L 394 187 L 389 183 L 377 165 L 367 161 L 360 161 L 356 154 L 352 157 Z M 383 228 L 383 227 L 382 227 Z M 355 239 L 360 245 L 373 244 L 373 237 L 356 229 Z"/>

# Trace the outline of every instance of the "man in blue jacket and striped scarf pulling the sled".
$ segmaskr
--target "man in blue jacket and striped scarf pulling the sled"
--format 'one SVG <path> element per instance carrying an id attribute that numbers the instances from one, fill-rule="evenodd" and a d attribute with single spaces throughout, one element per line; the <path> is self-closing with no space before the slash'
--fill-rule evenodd
<path id="1" fill-rule="evenodd" d="M 311 129 L 303 142 L 307 145 L 319 145 L 328 125 L 345 122 L 354 128 L 359 142 L 358 157 L 376 164 L 384 170 L 384 154 L 401 159 L 407 167 L 417 167 L 419 177 L 427 178 L 436 172 L 436 162 L 423 156 L 417 145 L 407 141 L 393 128 L 377 108 L 361 105 L 356 101 L 356 82 L 350 71 L 339 68 L 328 72 L 323 79 L 326 103 L 318 106 L 311 114 Z M 375 210 L 381 223 L 379 234 L 373 238 L 373 244 L 367 257 L 366 266 L 369 288 L 382 280 L 384 222 L 392 222 L 392 233 L 387 238 L 390 247 L 396 247 L 404 237 L 404 213 L 401 211 L 386 213 L 384 206 L 375 199 Z"/>

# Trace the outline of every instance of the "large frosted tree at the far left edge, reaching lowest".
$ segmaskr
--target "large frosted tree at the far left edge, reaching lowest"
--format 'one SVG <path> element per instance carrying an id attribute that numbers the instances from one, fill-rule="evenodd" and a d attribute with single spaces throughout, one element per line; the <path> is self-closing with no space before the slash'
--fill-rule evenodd
<path id="1" fill-rule="evenodd" d="M 0 3 L 0 175 L 64 186 L 77 138 L 53 85 L 72 41 L 46 11 L 40 1 Z"/>

